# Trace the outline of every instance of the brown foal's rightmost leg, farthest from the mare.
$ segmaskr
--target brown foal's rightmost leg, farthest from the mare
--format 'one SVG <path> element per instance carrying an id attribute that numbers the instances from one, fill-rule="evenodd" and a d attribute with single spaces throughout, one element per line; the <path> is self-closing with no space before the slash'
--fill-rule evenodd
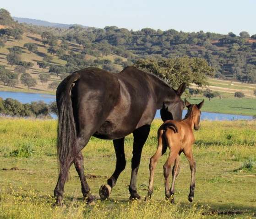
<path id="1" fill-rule="evenodd" d="M 190 193 L 189 193 L 189 196 L 188 196 L 188 200 L 190 202 L 192 202 L 193 199 L 194 199 L 194 192 L 195 192 L 195 189 L 196 189 L 196 183 L 195 183 L 196 162 L 193 158 L 193 152 L 192 152 L 191 147 L 187 150 L 184 150 L 183 152 L 184 152 L 186 158 L 189 161 L 189 166 L 190 166 L 190 170 L 191 170 L 191 184 L 190 184 Z"/>

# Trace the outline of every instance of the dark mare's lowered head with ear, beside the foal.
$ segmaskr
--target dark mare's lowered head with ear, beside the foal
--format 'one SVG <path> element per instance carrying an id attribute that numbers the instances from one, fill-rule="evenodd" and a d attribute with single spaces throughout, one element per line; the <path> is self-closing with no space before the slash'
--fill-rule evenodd
<path id="1" fill-rule="evenodd" d="M 186 89 L 186 84 L 182 83 L 178 90 L 174 90 L 174 96 L 170 101 L 163 102 L 163 108 L 160 110 L 161 118 L 163 122 L 166 120 L 177 120 L 182 119 L 182 111 L 184 109 L 184 101 L 181 99 L 181 95 Z"/>

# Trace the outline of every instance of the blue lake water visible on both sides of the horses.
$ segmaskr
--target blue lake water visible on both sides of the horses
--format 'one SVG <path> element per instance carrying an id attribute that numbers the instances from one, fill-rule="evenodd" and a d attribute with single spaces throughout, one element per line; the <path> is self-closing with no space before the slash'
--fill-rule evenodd
<path id="1" fill-rule="evenodd" d="M 51 101 L 55 101 L 55 95 L 49 94 L 38 94 L 38 93 L 22 93 L 22 92 L 9 92 L 9 91 L 0 91 L 0 97 L 4 100 L 6 98 L 16 99 L 22 103 L 31 103 L 32 101 L 42 100 L 45 103 L 50 103 Z M 186 110 L 183 111 L 184 118 Z M 56 118 L 55 115 L 52 115 L 53 118 Z M 157 111 L 155 118 L 160 117 L 160 110 Z M 241 115 L 230 115 L 230 114 L 222 114 L 222 113 L 214 113 L 214 112 L 202 112 L 202 120 L 251 120 L 252 116 L 241 116 Z"/>

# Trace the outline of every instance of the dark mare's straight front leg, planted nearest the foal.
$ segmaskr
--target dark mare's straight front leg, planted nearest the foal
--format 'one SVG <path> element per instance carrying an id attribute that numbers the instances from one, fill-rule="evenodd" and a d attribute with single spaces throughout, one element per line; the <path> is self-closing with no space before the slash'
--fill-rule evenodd
<path id="1" fill-rule="evenodd" d="M 140 128 L 137 128 L 133 132 L 134 142 L 133 142 L 132 159 L 131 159 L 131 182 L 129 186 L 129 192 L 131 194 L 130 200 L 141 198 L 137 193 L 137 188 L 136 188 L 137 173 L 140 166 L 142 148 L 147 140 L 149 131 L 150 131 L 150 125 L 144 125 Z"/>

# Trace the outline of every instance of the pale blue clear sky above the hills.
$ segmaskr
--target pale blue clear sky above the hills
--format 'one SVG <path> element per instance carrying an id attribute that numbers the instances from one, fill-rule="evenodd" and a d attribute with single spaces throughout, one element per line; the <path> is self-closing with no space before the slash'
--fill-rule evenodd
<path id="1" fill-rule="evenodd" d="M 5 0 L 11 16 L 128 30 L 256 34 L 256 0 Z"/>

